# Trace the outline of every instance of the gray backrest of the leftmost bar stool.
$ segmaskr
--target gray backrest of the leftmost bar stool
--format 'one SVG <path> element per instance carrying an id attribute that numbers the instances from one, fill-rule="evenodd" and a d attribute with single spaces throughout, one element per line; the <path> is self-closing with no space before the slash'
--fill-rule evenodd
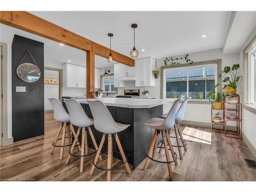
<path id="1" fill-rule="evenodd" d="M 57 98 L 48 99 L 53 107 L 53 117 L 59 122 L 69 122 L 70 116 Z"/>

